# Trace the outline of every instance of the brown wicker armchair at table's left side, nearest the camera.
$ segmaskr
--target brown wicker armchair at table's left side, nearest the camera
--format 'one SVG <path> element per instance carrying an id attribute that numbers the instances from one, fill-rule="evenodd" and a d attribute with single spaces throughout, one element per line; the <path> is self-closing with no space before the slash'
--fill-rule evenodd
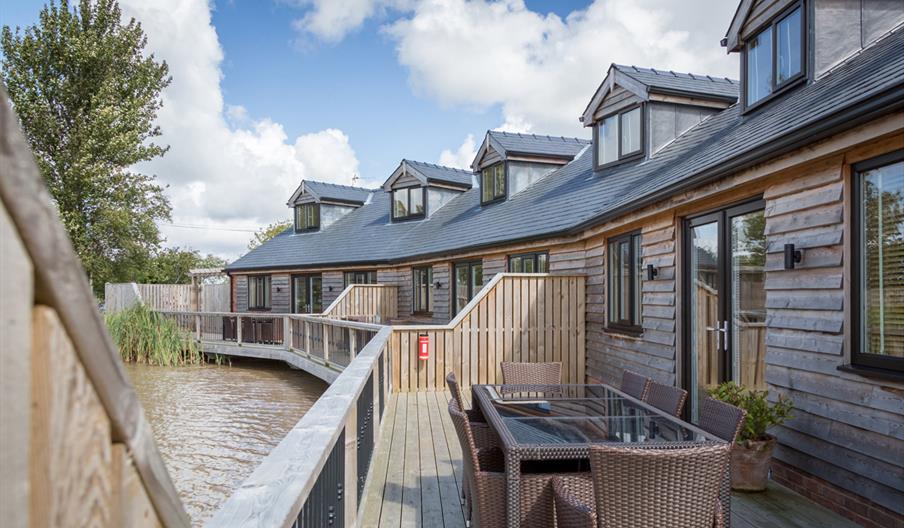
<path id="1" fill-rule="evenodd" d="M 475 445 L 471 423 L 455 400 L 449 401 L 449 416 L 461 443 L 464 480 L 474 490 L 466 510 L 468 523 L 476 520 L 480 528 L 504 526 L 508 494 L 503 452 L 496 447 L 480 449 Z M 522 473 L 519 478 L 519 526 L 547 528 L 555 524 L 553 479 L 583 495 L 593 494 L 593 480 L 589 471 Z"/>

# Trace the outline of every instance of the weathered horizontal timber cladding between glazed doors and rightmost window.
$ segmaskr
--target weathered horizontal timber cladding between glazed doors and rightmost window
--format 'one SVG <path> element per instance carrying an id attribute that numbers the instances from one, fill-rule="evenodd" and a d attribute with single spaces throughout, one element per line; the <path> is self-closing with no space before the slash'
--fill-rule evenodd
<path id="1" fill-rule="evenodd" d="M 794 401 L 775 457 L 904 513 L 904 387 L 842 373 L 850 166 L 813 163 L 766 188 L 766 381 Z M 849 225 L 849 224 L 848 224 Z M 785 270 L 782 249 L 803 260 Z M 849 321 L 849 319 L 848 319 Z"/>

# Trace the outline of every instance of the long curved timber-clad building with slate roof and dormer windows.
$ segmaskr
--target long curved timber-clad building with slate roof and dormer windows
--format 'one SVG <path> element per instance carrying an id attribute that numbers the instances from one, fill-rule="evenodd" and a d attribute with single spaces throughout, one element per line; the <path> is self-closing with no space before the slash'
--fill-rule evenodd
<path id="1" fill-rule="evenodd" d="M 446 324 L 500 272 L 581 274 L 588 381 L 684 387 L 691 419 L 723 381 L 788 396 L 773 478 L 904 522 L 902 23 L 900 2 L 743 0 L 739 81 L 612 65 L 592 141 L 488 132 L 473 172 L 403 160 L 231 264 L 234 309 L 377 282 L 399 323 Z M 293 207 L 350 202 L 300 189 Z"/>

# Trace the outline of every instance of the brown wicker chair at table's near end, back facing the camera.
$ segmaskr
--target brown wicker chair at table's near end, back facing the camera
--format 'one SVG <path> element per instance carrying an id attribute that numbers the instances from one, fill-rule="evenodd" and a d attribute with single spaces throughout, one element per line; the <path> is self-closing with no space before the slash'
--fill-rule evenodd
<path id="1" fill-rule="evenodd" d="M 728 444 L 682 449 L 590 447 L 593 501 L 555 480 L 559 528 L 722 527 Z"/>

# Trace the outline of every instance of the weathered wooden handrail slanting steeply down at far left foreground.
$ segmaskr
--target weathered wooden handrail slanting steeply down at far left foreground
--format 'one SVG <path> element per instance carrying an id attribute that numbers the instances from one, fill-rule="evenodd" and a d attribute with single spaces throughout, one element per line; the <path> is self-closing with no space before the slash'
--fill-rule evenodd
<path id="1" fill-rule="evenodd" d="M 160 520 L 189 526 L 151 435 L 119 352 L 95 307 L 94 294 L 31 149 L 0 86 L 0 198 L 34 263 L 35 301 L 52 307 L 107 413 L 115 442 L 122 442 Z"/>

